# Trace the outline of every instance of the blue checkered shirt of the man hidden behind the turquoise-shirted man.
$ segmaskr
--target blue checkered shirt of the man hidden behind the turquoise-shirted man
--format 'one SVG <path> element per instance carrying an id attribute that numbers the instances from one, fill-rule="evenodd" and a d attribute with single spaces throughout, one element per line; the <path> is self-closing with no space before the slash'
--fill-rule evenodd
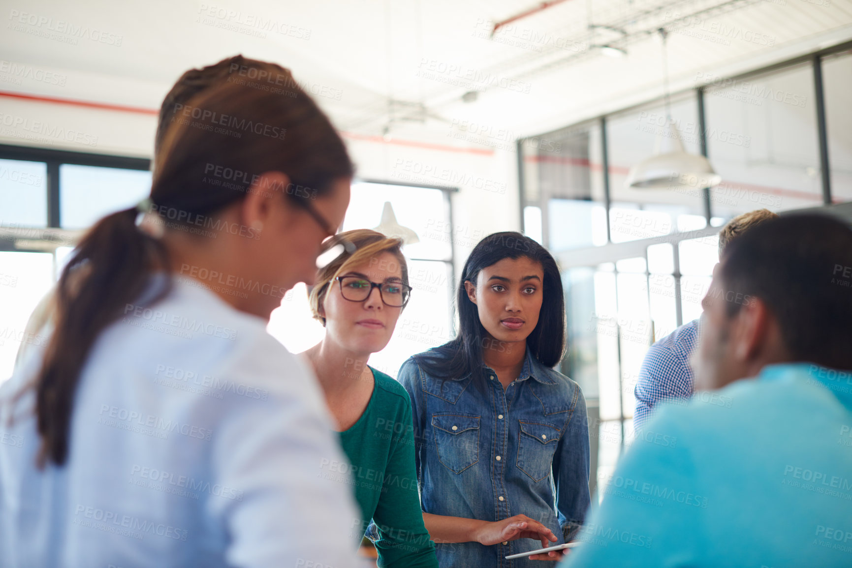
<path id="1" fill-rule="evenodd" d="M 693 392 L 694 374 L 689 358 L 698 343 L 700 319 L 683 324 L 671 334 L 654 343 L 639 370 L 639 380 L 633 394 L 636 396 L 636 411 L 633 427 L 639 430 L 644 425 L 651 409 L 666 399 L 689 399 Z"/>

